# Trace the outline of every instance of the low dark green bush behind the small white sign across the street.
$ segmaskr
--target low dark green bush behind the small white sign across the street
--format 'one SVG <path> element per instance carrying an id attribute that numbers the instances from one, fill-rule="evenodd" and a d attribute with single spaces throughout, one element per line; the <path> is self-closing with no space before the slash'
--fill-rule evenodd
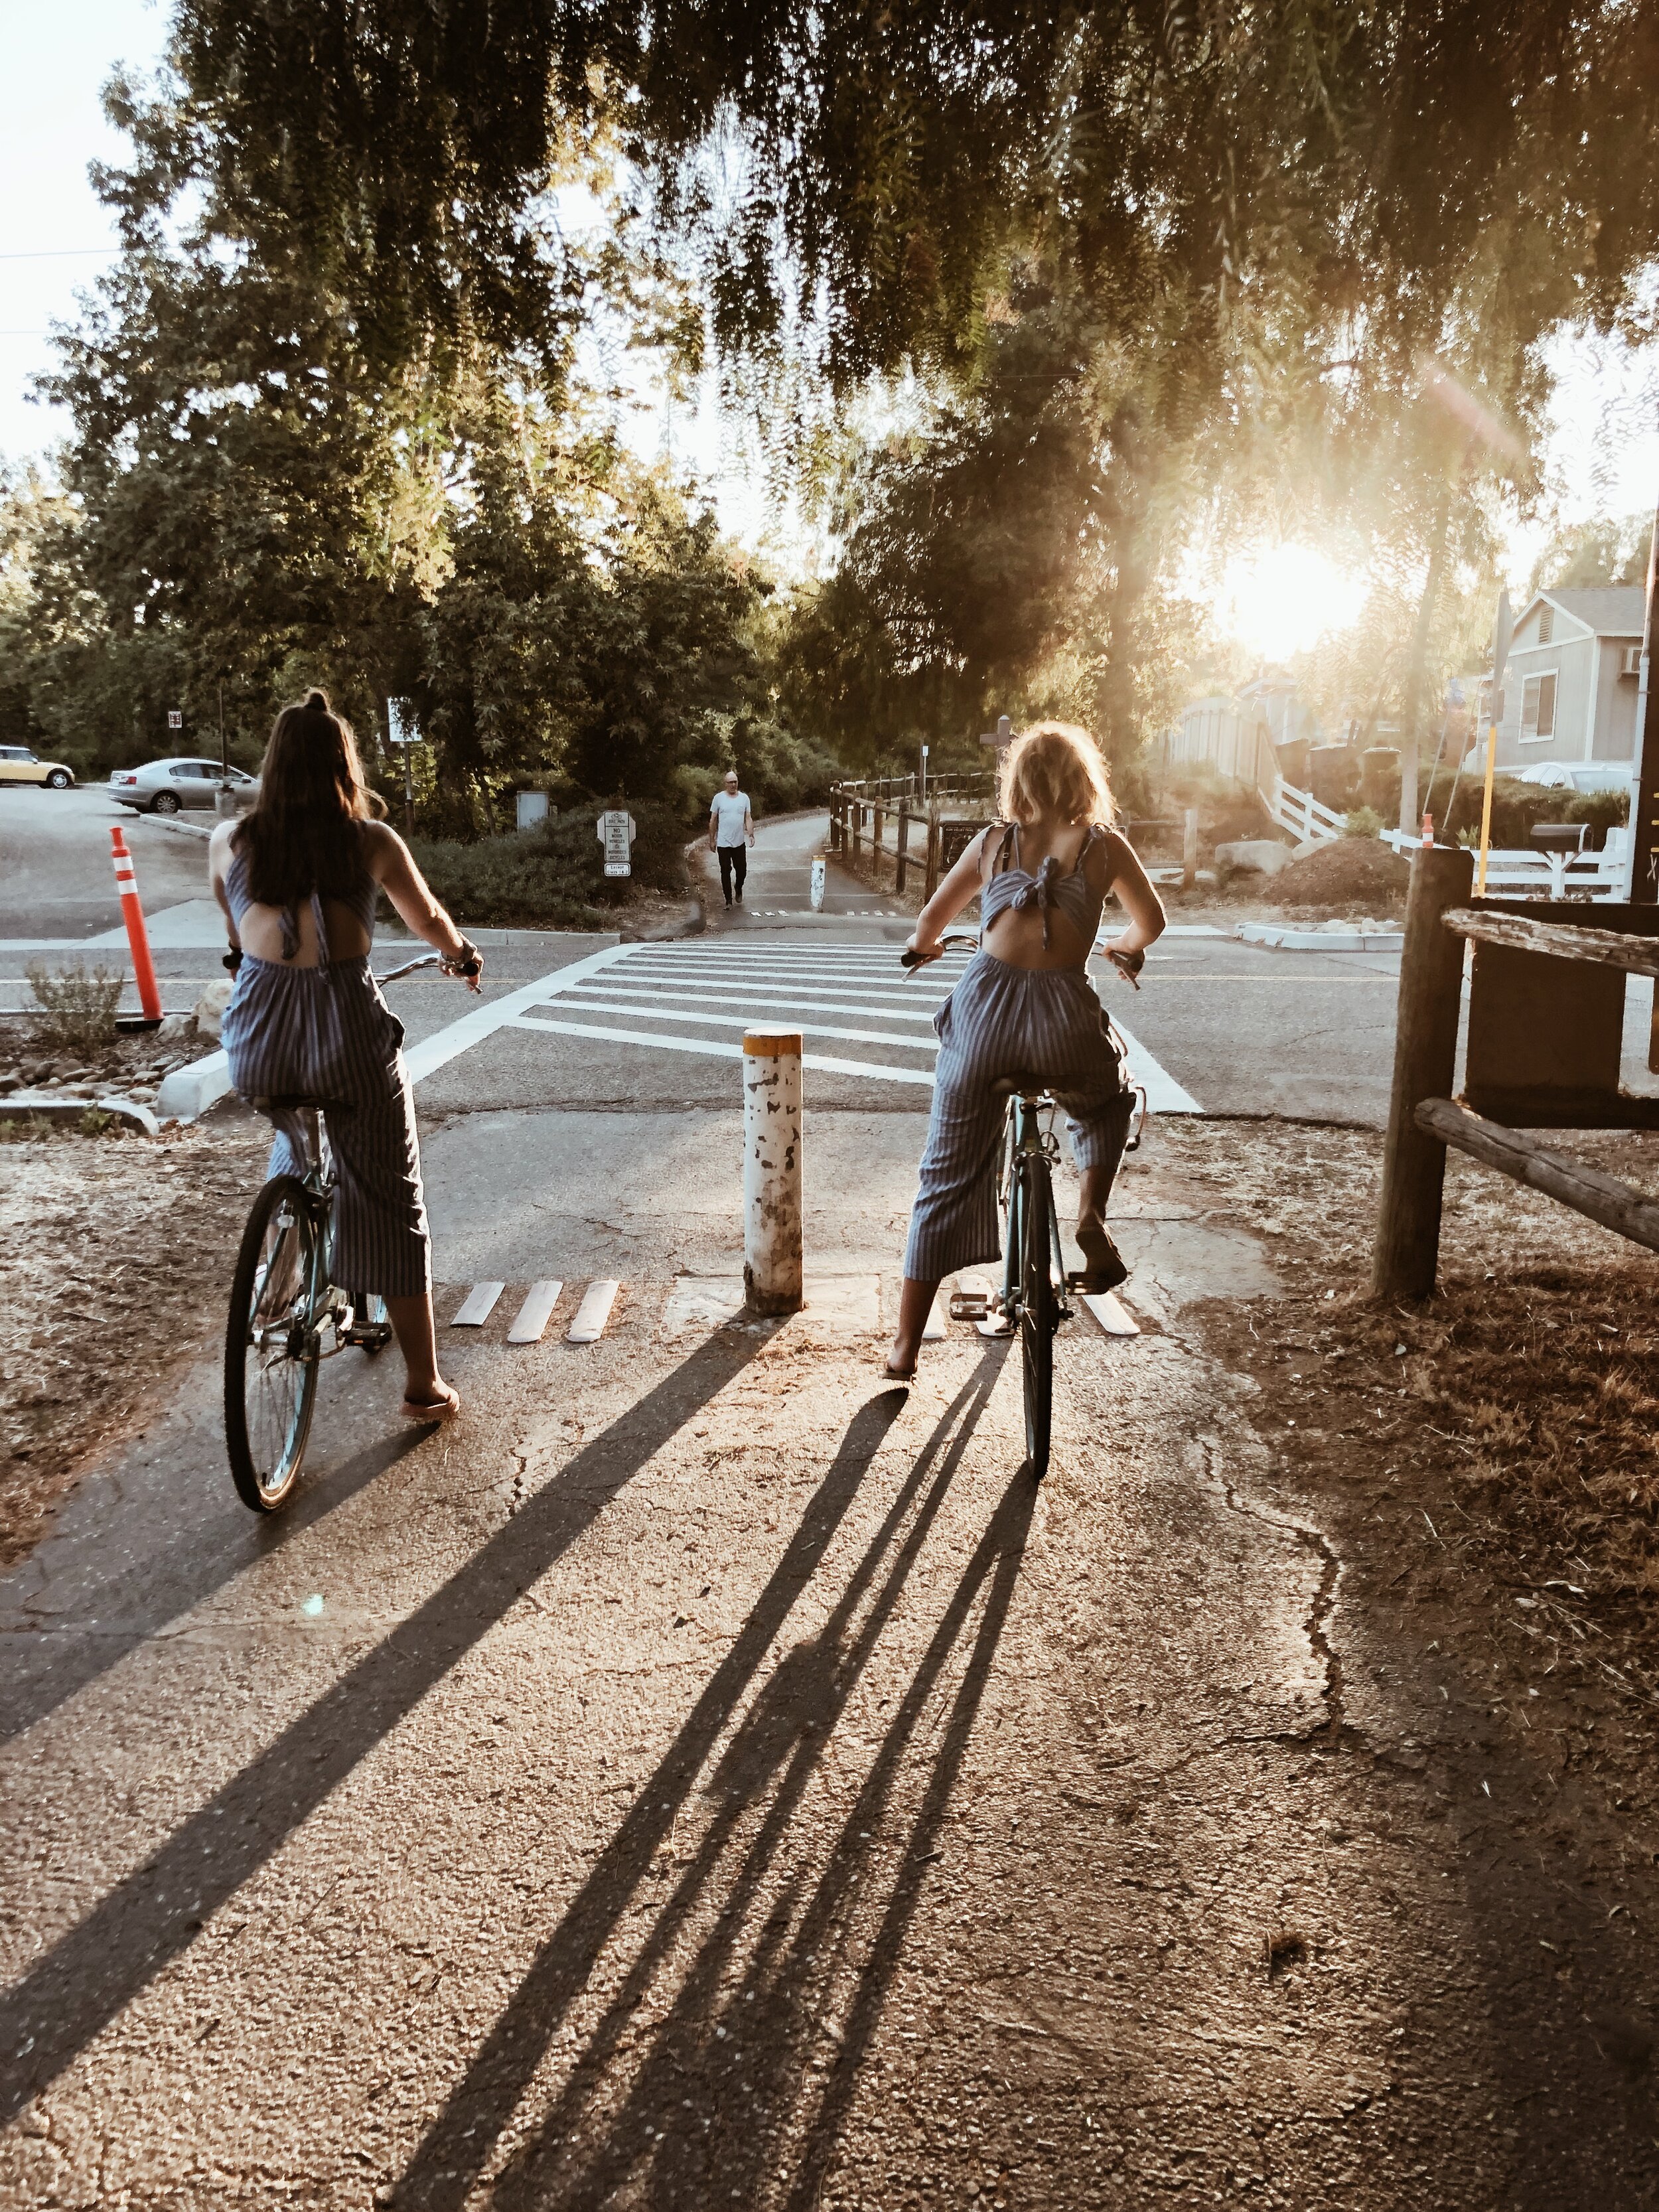
<path id="1" fill-rule="evenodd" d="M 540 830 L 478 838 L 416 838 L 416 865 L 458 922 L 522 922 L 542 929 L 604 929 L 606 907 L 641 887 L 686 887 L 686 827 L 672 807 L 633 803 L 633 876 L 604 874 L 597 825 L 604 810 L 573 807 Z"/>

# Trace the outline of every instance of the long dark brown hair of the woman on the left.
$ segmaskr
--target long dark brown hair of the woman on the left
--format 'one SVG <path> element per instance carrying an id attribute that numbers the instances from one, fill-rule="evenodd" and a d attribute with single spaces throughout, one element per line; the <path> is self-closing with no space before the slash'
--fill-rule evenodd
<path id="1" fill-rule="evenodd" d="M 259 805 L 234 834 L 248 856 L 248 896 L 292 907 L 312 891 L 349 898 L 363 887 L 363 823 L 385 814 L 363 781 L 352 723 L 312 690 L 276 717 L 259 770 Z"/>

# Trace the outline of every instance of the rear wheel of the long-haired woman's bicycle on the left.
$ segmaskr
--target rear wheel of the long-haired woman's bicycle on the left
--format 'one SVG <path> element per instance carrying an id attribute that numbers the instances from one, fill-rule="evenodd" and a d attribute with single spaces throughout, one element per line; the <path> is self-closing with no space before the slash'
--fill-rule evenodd
<path id="1" fill-rule="evenodd" d="M 312 1292 L 316 1223 L 294 1175 L 254 1199 L 230 1283 L 226 1451 L 237 1495 L 276 1513 L 299 1480 L 316 1402 Z"/>

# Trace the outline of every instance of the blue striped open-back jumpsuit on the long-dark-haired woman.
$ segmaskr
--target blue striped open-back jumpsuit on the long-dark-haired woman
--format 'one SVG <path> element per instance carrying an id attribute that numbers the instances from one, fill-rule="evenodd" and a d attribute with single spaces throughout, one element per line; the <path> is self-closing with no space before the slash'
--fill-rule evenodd
<path id="1" fill-rule="evenodd" d="M 232 854 L 226 898 L 241 929 L 252 905 L 248 863 Z M 374 938 L 376 885 L 341 896 Z M 230 1082 L 246 1099 L 305 1095 L 327 1099 L 334 1150 L 334 1281 L 354 1296 L 418 1298 L 431 1290 L 431 1237 L 420 1188 L 414 1093 L 403 1064 L 403 1022 L 358 960 L 330 960 L 323 900 L 312 891 L 319 967 L 290 967 L 299 918 L 283 914 L 283 958 L 243 953 L 219 1042 Z M 276 1141 L 268 1175 L 305 1175 L 305 1126 L 292 1108 L 270 1115 Z"/>

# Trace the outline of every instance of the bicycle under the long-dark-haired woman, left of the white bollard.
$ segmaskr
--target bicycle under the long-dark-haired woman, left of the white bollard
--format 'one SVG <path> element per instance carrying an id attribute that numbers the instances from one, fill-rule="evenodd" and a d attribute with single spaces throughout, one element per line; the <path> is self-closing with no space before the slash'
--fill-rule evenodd
<path id="1" fill-rule="evenodd" d="M 425 953 L 376 975 L 398 982 L 440 967 Z M 257 1097 L 254 1108 L 305 1117 L 305 1175 L 274 1175 L 252 1203 L 230 1279 L 226 1327 L 226 1453 L 237 1495 L 254 1513 L 279 1513 L 294 1493 L 316 1405 L 323 1360 L 356 1345 L 374 1358 L 392 1343 L 385 1298 L 369 1294 L 358 1312 L 334 1272 L 334 1155 L 327 1141 L 330 1102 Z M 252 1354 L 252 1358 L 250 1358 Z"/>

